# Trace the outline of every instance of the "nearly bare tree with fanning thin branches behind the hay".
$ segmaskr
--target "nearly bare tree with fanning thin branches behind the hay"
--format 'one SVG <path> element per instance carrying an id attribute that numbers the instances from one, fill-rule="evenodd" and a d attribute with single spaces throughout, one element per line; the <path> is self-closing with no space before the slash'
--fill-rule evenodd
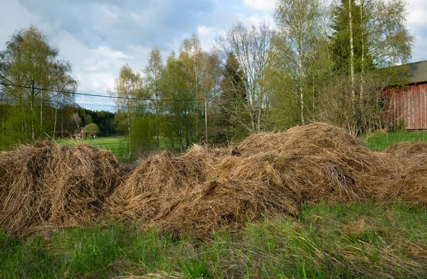
<path id="1" fill-rule="evenodd" d="M 233 53 L 241 68 L 241 79 L 245 84 L 246 102 L 244 108 L 249 115 L 249 122 L 233 117 L 251 132 L 263 131 L 263 118 L 270 107 L 270 92 L 265 84 L 265 73 L 273 60 L 275 31 L 266 23 L 252 26 L 248 30 L 243 23 L 233 26 L 225 36 L 216 40 L 216 55 L 224 67 L 229 53 Z M 236 88 L 237 89 L 237 88 Z M 241 90 L 241 89 L 237 89 Z"/>

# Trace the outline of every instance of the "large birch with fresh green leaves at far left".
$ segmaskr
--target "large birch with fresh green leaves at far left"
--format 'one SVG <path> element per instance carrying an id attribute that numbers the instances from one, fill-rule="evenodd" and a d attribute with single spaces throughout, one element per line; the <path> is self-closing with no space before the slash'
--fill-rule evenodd
<path id="1" fill-rule="evenodd" d="M 55 93 L 42 89 L 75 90 L 77 87 L 69 75 L 69 62 L 56 60 L 58 53 L 36 26 L 16 31 L 6 43 L 6 50 L 0 52 L 0 81 L 21 86 L 5 86 L 4 93 L 11 104 L 20 107 L 18 121 L 23 138 L 35 140 L 36 134 L 43 136 L 43 106 L 51 105 Z M 37 121 L 40 126 L 36 125 Z"/>

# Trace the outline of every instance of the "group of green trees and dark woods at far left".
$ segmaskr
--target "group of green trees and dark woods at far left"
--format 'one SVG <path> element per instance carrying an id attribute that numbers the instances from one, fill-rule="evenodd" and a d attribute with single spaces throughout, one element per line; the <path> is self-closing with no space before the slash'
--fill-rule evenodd
<path id="1" fill-rule="evenodd" d="M 75 104 L 78 81 L 58 54 L 36 26 L 16 31 L 0 52 L 1 147 L 70 136 L 92 123 L 104 136 L 117 133 L 112 112 Z"/>

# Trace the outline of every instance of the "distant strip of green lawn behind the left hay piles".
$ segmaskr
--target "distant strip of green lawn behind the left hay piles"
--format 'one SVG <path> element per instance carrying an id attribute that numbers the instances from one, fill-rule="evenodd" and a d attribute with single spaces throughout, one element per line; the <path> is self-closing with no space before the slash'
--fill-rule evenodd
<path id="1" fill-rule="evenodd" d="M 110 136 L 100 138 L 64 138 L 56 141 L 64 146 L 76 144 L 90 144 L 100 149 L 111 151 L 117 158 L 127 158 L 129 155 L 129 141 L 126 136 Z"/>

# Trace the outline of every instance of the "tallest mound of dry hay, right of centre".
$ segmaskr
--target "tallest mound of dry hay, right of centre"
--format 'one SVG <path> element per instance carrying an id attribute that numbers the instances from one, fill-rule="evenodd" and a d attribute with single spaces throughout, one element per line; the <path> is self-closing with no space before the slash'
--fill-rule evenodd
<path id="1" fill-rule="evenodd" d="M 258 133 L 233 153 L 253 163 L 270 154 L 270 165 L 283 183 L 310 202 L 378 199 L 379 189 L 395 179 L 394 168 L 399 165 L 393 156 L 370 151 L 343 129 L 323 123 Z"/>

